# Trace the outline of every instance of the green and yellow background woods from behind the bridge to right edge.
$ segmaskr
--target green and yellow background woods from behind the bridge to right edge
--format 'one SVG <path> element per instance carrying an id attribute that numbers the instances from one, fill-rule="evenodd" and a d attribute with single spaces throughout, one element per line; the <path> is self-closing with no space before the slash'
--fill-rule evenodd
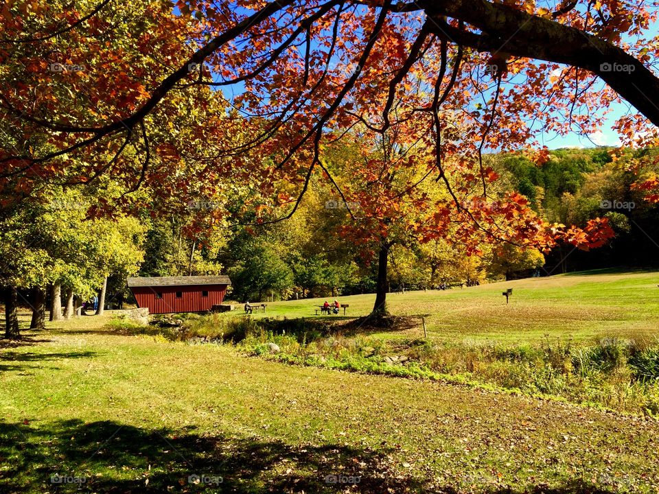
<path id="1" fill-rule="evenodd" d="M 500 174 L 500 187 L 526 196 L 548 222 L 584 226 L 595 217 L 610 220 L 616 236 L 605 246 L 588 251 L 559 244 L 551 252 L 520 249 L 510 244 L 484 245 L 481 255 L 442 239 L 395 244 L 389 250 L 391 290 L 438 287 L 557 274 L 613 266 L 658 266 L 653 253 L 659 238 L 659 207 L 632 189 L 638 167 L 654 169 L 655 152 L 612 148 L 554 150 L 546 163 L 530 156 L 494 154 L 490 166 Z M 231 298 L 261 301 L 336 296 L 375 291 L 378 252 L 343 234 L 354 220 L 348 208 L 322 180 L 312 183 L 299 210 L 289 220 L 268 226 L 239 226 L 218 232 L 210 242 L 185 238 L 185 224 L 172 217 L 152 224 L 146 234 L 142 276 L 227 273 L 233 281 Z M 213 204 L 194 204 L 202 209 Z M 113 287 L 122 286 L 116 279 Z"/>

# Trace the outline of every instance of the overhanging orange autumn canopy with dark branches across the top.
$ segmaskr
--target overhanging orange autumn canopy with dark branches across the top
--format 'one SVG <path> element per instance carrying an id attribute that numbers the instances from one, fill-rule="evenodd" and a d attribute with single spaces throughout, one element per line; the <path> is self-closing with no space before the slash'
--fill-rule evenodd
<path id="1" fill-rule="evenodd" d="M 478 161 L 484 148 L 520 147 L 538 132 L 592 132 L 619 98 L 638 110 L 618 121 L 625 142 L 647 143 L 659 123 L 653 5 L 14 1 L 0 12 L 10 89 L 0 108 L 13 127 L 0 186 L 25 192 L 38 179 L 107 172 L 139 185 L 149 171 L 162 179 L 151 169 L 158 156 L 171 162 L 204 141 L 218 168 L 258 148 L 289 180 L 308 180 L 327 139 L 400 122 L 432 148 L 441 176 L 444 156 Z M 209 88 L 238 92 L 233 118 L 216 109 L 184 142 L 159 143 L 163 117 L 185 110 L 181 99 L 207 110 Z M 459 135 L 446 136 L 456 118 Z M 246 128 L 248 139 L 227 139 Z M 130 147 L 141 165 L 122 160 Z M 71 156 L 84 165 L 71 167 Z"/>

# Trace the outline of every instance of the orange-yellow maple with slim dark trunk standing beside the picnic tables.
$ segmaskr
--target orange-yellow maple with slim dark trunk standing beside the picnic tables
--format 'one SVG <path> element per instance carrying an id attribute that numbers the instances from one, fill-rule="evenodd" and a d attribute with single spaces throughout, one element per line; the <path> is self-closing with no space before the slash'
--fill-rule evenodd
<path id="1" fill-rule="evenodd" d="M 608 238 L 605 222 L 601 229 L 546 225 L 518 193 L 490 187 L 484 197 L 468 162 L 447 166 L 446 179 L 458 184 L 449 193 L 439 180 L 429 180 L 436 163 L 426 143 L 406 141 L 409 132 L 402 127 L 397 124 L 382 136 L 368 130 L 353 133 L 334 146 L 338 149 L 321 154 L 342 191 L 341 198 L 330 201 L 347 217 L 340 235 L 362 246 L 365 257 L 377 259 L 373 314 L 386 314 L 389 257 L 396 247 L 411 250 L 443 240 L 462 255 L 481 256 L 496 244 L 509 244 L 512 252 L 513 246 L 555 246 L 557 239 L 586 248 L 596 235 Z M 347 139 L 354 141 L 346 145 Z M 494 186 L 496 172 L 487 167 L 485 173 Z M 452 211 L 454 201 L 459 211 Z M 548 228 L 553 228 L 551 236 Z"/>

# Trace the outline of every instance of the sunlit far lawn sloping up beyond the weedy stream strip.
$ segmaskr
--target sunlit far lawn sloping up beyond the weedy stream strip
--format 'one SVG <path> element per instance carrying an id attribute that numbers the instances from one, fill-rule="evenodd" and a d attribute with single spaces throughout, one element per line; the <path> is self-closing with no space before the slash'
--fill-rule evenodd
<path id="1" fill-rule="evenodd" d="M 397 315 L 429 314 L 426 324 L 430 336 L 443 340 L 532 342 L 545 335 L 575 340 L 654 337 L 659 328 L 658 284 L 657 272 L 569 274 L 447 291 L 389 294 L 388 307 Z M 507 288 L 513 289 L 509 305 L 501 294 Z M 347 315 L 365 316 L 373 307 L 374 295 L 339 299 L 350 305 Z M 314 305 L 323 301 L 269 303 L 265 316 L 314 317 Z M 224 316 L 244 317 L 240 309 Z M 420 322 L 415 331 L 420 331 Z"/>

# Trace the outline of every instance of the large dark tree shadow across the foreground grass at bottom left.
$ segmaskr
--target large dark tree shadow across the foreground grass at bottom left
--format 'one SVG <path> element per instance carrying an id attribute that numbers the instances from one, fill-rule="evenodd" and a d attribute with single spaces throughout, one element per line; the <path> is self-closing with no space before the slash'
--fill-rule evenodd
<path id="1" fill-rule="evenodd" d="M 393 467 L 393 451 L 279 440 L 201 436 L 146 430 L 113 421 L 50 424 L 0 422 L 0 491 L 93 493 L 445 493 Z M 58 475 L 54 477 L 54 475 Z M 57 482 L 62 480 L 62 482 Z M 55 482 L 54 482 L 55 481 Z M 483 493 L 590 493 L 583 482 L 526 491 L 500 487 Z"/>

